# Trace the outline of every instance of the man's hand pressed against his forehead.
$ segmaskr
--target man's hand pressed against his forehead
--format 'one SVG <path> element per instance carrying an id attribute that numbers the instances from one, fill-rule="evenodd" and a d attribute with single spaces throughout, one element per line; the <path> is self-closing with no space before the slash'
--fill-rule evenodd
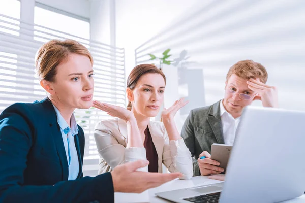
<path id="1" fill-rule="evenodd" d="M 261 100 L 264 107 L 279 107 L 278 90 L 276 87 L 266 85 L 259 79 L 250 78 L 247 81 L 249 89 L 258 93 L 253 100 Z"/>

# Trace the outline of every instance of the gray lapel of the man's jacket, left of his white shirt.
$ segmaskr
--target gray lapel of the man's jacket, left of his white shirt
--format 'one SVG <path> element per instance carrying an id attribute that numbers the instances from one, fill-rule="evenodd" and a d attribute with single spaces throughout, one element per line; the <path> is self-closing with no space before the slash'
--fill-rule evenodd
<path id="1" fill-rule="evenodd" d="M 215 134 L 217 142 L 219 144 L 225 144 L 220 117 L 220 101 L 211 106 L 208 113 L 211 116 L 207 117 L 207 120 Z"/>

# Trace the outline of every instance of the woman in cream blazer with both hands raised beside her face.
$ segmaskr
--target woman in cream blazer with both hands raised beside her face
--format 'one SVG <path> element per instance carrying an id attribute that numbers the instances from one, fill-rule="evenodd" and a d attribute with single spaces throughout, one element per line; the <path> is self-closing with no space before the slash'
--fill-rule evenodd
<path id="1" fill-rule="evenodd" d="M 94 101 L 93 106 L 118 117 L 96 125 L 95 140 L 100 155 L 99 174 L 117 165 L 144 159 L 143 171 L 162 173 L 162 163 L 170 172 L 181 172 L 181 179 L 193 174 L 192 157 L 176 128 L 174 116 L 187 102 L 177 100 L 162 111 L 162 122 L 150 121 L 160 111 L 166 78 L 151 64 L 136 66 L 127 80 L 128 108 Z"/>

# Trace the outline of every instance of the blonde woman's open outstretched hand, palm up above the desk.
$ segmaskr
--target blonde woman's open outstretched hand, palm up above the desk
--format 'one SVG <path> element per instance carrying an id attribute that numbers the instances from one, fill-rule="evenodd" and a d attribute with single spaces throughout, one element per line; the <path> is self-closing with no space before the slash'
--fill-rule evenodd
<path id="1" fill-rule="evenodd" d="M 182 176 L 181 173 L 149 173 L 137 171 L 149 161 L 138 160 L 116 166 L 111 172 L 114 192 L 141 193 Z"/>

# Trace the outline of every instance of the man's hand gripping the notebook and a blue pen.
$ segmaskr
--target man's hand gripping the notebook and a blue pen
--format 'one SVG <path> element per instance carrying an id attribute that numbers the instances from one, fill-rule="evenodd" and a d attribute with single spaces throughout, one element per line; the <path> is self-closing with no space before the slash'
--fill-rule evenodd
<path id="1" fill-rule="evenodd" d="M 209 176 L 211 174 L 220 174 L 221 172 L 224 171 L 223 168 L 218 167 L 220 163 L 216 160 L 211 159 L 211 155 L 207 151 L 204 151 L 199 155 L 199 157 L 203 157 L 203 156 L 205 156 L 206 158 L 204 159 L 198 158 L 198 166 L 201 175 Z"/>

